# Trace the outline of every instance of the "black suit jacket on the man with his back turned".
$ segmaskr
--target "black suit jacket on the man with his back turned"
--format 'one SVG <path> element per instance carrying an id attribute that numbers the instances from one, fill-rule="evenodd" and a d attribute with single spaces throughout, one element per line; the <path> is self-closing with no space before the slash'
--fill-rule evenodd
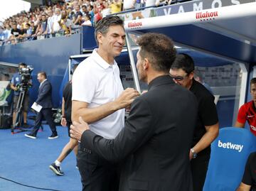
<path id="1" fill-rule="evenodd" d="M 81 149 L 122 160 L 119 190 L 191 191 L 189 151 L 196 124 L 196 97 L 161 76 L 134 100 L 124 129 L 114 140 L 85 131 Z"/>

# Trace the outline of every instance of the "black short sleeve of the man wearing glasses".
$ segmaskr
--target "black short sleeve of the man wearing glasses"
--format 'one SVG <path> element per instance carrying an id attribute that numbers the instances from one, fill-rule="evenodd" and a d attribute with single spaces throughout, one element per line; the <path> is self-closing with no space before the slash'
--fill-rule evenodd
<path id="1" fill-rule="evenodd" d="M 218 123 L 218 114 L 214 103 L 214 97 L 210 92 L 209 94 L 206 94 L 205 97 L 202 97 L 199 107 L 199 117 L 203 121 L 204 126 L 213 126 Z"/>

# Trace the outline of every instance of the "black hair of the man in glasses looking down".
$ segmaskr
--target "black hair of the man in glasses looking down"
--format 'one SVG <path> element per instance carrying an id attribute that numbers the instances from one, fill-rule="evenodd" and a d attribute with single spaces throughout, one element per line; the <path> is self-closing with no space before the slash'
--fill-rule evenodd
<path id="1" fill-rule="evenodd" d="M 195 65 L 193 59 L 189 55 L 181 53 L 176 55 L 176 59 L 174 60 L 173 65 L 171 65 L 171 69 L 182 69 L 187 74 L 190 74 L 191 72 L 193 72 L 193 70 L 195 70 Z"/>

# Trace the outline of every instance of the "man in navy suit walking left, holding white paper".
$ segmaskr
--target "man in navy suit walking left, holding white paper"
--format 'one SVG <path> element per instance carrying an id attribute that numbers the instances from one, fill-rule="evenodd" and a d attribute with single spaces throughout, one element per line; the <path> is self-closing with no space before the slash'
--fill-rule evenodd
<path id="1" fill-rule="evenodd" d="M 42 109 L 36 116 L 36 123 L 29 134 L 25 134 L 28 138 L 36 138 L 38 129 L 41 126 L 41 122 L 44 119 L 48 122 L 50 130 L 53 132 L 49 139 L 58 138 L 58 133 L 56 131 L 56 126 L 53 122 L 53 103 L 52 103 L 52 86 L 47 80 L 46 72 L 38 72 L 38 81 L 40 82 L 38 90 L 38 99 L 36 99 L 36 104 L 41 105 Z"/>

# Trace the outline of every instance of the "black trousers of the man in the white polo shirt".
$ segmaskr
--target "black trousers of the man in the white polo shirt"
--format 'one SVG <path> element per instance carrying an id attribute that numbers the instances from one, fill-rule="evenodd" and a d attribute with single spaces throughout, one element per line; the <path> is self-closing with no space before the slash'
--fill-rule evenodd
<path id="1" fill-rule="evenodd" d="M 78 150 L 78 168 L 82 191 L 117 191 L 119 168 L 88 149 Z"/>

